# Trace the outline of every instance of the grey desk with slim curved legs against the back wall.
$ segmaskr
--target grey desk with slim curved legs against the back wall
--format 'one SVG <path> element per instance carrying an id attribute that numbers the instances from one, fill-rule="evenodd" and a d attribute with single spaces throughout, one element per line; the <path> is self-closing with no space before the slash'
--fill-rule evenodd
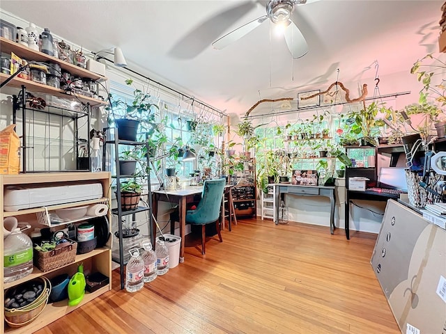
<path id="1" fill-rule="evenodd" d="M 279 207 L 282 193 L 291 193 L 298 196 L 324 196 L 330 198 L 330 232 L 334 231 L 334 186 L 300 186 L 288 183 L 277 183 L 275 186 L 276 216 L 275 224 L 279 223 Z"/>

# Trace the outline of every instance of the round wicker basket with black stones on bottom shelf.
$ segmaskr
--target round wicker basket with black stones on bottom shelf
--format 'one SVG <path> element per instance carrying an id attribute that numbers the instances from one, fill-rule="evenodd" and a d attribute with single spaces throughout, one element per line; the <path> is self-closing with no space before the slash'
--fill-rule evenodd
<path id="1" fill-rule="evenodd" d="M 32 303 L 22 308 L 5 308 L 5 321 L 8 326 L 12 328 L 22 327 L 34 321 L 48 303 L 49 292 L 51 292 L 51 283 L 49 280 L 42 276 L 36 278 L 36 280 L 43 280 L 43 292 Z M 15 289 L 11 287 L 10 289 Z M 8 290 L 6 290 L 6 296 L 8 296 Z"/>

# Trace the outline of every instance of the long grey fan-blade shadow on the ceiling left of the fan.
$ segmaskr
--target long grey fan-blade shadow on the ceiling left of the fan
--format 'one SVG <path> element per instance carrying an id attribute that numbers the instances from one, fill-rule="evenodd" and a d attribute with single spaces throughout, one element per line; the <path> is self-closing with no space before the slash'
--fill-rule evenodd
<path id="1" fill-rule="evenodd" d="M 169 55 L 180 59 L 191 59 L 198 56 L 223 33 L 224 29 L 236 23 L 254 7 L 256 7 L 256 1 L 245 1 L 229 8 L 229 10 L 213 15 L 183 36 L 169 51 Z"/>

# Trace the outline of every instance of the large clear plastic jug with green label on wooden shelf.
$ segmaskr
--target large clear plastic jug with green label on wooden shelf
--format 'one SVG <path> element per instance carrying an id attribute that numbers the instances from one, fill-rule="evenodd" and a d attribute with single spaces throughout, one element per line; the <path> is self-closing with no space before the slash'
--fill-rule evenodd
<path id="1" fill-rule="evenodd" d="M 13 282 L 33 272 L 33 241 L 15 228 L 3 243 L 3 282 Z"/>

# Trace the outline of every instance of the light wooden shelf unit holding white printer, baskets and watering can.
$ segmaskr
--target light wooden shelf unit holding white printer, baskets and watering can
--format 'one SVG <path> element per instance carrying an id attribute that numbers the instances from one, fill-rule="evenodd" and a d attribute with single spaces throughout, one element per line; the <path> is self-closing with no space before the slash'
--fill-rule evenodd
<path id="1" fill-rule="evenodd" d="M 66 184 L 66 182 L 91 182 L 96 181 L 102 184 L 102 198 L 98 198 L 97 200 L 84 200 L 81 202 L 71 202 L 62 205 L 52 205 L 48 207 L 35 207 L 31 209 L 22 209 L 15 212 L 7 212 L 3 208 L 3 193 L 6 186 L 15 185 L 32 185 L 45 186 L 46 184 L 51 183 L 52 185 L 62 185 Z M 69 207 L 79 207 L 82 205 L 91 205 L 97 203 L 109 202 L 109 189 L 110 189 L 110 174 L 108 172 L 100 172 L 100 173 L 26 173 L 20 175 L 0 175 L 0 221 L 3 222 L 3 218 L 9 216 L 15 216 L 18 221 L 26 221 L 31 225 L 31 228 L 45 228 L 45 225 L 40 225 L 38 223 L 38 215 L 43 213 L 52 212 L 55 209 L 63 209 Z M 110 233 L 109 233 L 110 235 Z M 84 299 L 77 306 L 68 306 L 68 301 L 60 301 L 57 303 L 48 303 L 43 312 L 36 318 L 36 320 L 32 321 L 30 324 L 26 326 L 22 326 L 19 328 L 10 328 L 4 321 L 1 326 L 0 333 L 32 333 L 34 331 L 38 331 L 38 329 L 47 326 L 52 323 L 56 319 L 63 317 L 67 313 L 76 310 L 80 306 L 88 303 L 92 299 L 95 299 L 97 296 L 104 294 L 105 292 L 112 289 L 112 250 L 111 250 L 111 237 L 109 237 L 107 244 L 101 248 L 95 248 L 89 253 L 79 254 L 75 257 L 75 262 L 67 264 L 63 267 L 59 267 L 53 270 L 45 271 L 43 273 L 38 268 L 34 267 L 33 272 L 24 278 L 20 278 L 19 280 L 15 280 L 11 283 L 3 283 L 3 256 L 0 257 L 1 263 L 1 271 L 0 271 L 0 285 L 2 286 L 3 293 L 1 294 L 1 312 L 4 313 L 4 292 L 6 289 L 10 287 L 15 287 L 21 283 L 28 282 L 33 278 L 38 278 L 41 276 L 45 276 L 48 279 L 59 276 L 61 273 L 68 273 L 68 275 L 72 276 L 77 271 L 77 267 L 79 264 L 84 264 L 84 271 L 86 273 L 94 273 L 100 272 L 105 276 L 110 278 L 110 283 L 95 292 L 89 293 L 86 292 L 84 295 Z M 0 228 L 0 248 L 3 250 L 3 228 Z"/>

